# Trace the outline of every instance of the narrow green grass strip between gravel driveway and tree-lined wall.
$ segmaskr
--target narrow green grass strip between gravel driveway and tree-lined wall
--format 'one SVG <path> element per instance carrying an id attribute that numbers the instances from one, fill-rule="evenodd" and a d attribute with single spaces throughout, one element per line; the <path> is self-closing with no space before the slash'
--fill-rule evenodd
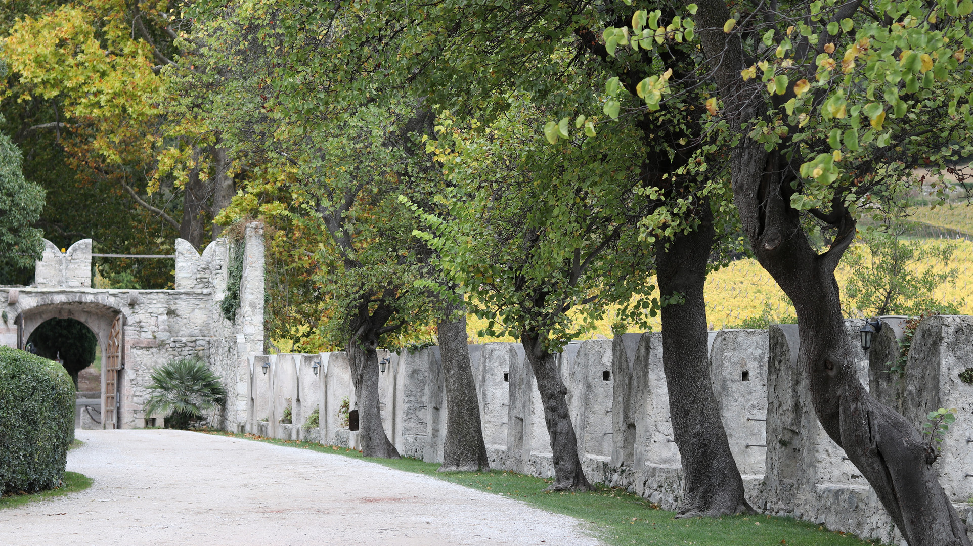
<path id="1" fill-rule="evenodd" d="M 791 518 L 764 515 L 730 516 L 719 519 L 694 518 L 675 520 L 674 512 L 659 510 L 648 500 L 621 489 L 598 486 L 596 491 L 585 493 L 544 492 L 550 480 L 524 476 L 513 472 L 450 472 L 436 470 L 438 464 L 414 458 L 385 459 L 365 457 L 354 450 L 336 446 L 322 446 L 311 442 L 271 440 L 252 434 L 231 434 L 209 431 L 212 434 L 233 436 L 266 442 L 277 446 L 290 446 L 329 455 L 344 455 L 377 462 L 384 466 L 428 474 L 440 480 L 459 484 L 480 491 L 503 494 L 518 498 L 551 512 L 571 516 L 595 524 L 597 535 L 617 546 L 629 544 L 707 546 L 771 546 L 790 544 L 796 546 L 851 546 L 876 544 L 855 536 L 830 532 L 806 522 Z"/>

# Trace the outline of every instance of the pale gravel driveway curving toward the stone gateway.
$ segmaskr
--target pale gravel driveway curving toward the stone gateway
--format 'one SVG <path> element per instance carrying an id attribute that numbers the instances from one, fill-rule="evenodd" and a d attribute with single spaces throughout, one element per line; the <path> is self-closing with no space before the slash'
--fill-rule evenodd
<path id="1" fill-rule="evenodd" d="M 78 430 L 88 491 L 0 510 L 0 544 L 597 546 L 577 520 L 372 462 L 175 430 Z"/>

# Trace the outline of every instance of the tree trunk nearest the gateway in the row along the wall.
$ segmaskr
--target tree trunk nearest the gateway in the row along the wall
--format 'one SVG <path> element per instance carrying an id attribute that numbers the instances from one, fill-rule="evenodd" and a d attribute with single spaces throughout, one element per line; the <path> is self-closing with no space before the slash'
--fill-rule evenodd
<path id="1" fill-rule="evenodd" d="M 378 406 L 378 333 L 368 327 L 359 328 L 345 347 L 351 367 L 351 382 L 355 385 L 358 404 L 358 434 L 362 454 L 384 458 L 399 458 L 399 452 L 388 441 L 381 425 Z"/>

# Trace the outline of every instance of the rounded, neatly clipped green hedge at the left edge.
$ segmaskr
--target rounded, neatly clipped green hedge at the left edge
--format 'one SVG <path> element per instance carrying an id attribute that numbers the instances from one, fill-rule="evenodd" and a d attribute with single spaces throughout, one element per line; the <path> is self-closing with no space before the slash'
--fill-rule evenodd
<path id="1" fill-rule="evenodd" d="M 74 440 L 74 399 L 63 366 L 0 347 L 0 494 L 60 486 Z"/>

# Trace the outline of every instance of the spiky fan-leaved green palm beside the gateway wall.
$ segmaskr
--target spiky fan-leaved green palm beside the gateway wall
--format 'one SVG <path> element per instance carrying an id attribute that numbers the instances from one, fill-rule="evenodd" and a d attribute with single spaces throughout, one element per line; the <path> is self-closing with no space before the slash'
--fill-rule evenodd
<path id="1" fill-rule="evenodd" d="M 170 360 L 152 372 L 153 393 L 145 405 L 145 415 L 165 413 L 168 428 L 189 428 L 203 412 L 222 408 L 227 389 L 206 363 L 198 358 Z"/>

